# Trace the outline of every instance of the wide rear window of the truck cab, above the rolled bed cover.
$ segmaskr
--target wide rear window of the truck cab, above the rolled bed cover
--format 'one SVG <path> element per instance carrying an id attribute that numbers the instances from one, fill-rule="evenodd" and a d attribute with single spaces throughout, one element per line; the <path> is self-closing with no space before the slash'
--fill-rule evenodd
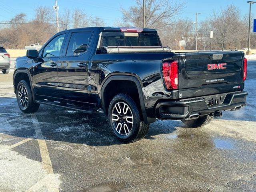
<path id="1" fill-rule="evenodd" d="M 102 32 L 100 47 L 102 46 L 161 46 L 161 44 L 158 35 L 154 33 Z"/>

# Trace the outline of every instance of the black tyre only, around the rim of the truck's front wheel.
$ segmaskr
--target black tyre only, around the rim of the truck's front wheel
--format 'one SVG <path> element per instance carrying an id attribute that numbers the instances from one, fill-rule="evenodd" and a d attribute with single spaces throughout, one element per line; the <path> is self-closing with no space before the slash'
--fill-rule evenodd
<path id="1" fill-rule="evenodd" d="M 18 92 L 19 92 L 21 86 L 24 86 L 26 88 L 26 91 L 27 91 L 27 97 L 28 97 L 28 102 L 27 103 L 28 104 L 25 108 L 20 104 L 20 98 L 19 98 L 19 93 Z M 18 103 L 18 106 L 19 106 L 20 110 L 24 113 L 34 113 L 38 110 L 38 108 L 40 106 L 40 104 L 36 103 L 33 100 L 30 85 L 25 80 L 21 80 L 18 83 L 17 90 L 16 90 L 16 98 L 17 98 L 17 103 Z"/>

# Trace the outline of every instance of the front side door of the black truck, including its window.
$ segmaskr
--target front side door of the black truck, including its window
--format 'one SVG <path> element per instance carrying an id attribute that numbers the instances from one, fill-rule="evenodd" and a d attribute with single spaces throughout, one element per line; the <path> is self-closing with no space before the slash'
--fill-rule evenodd
<path id="1" fill-rule="evenodd" d="M 58 62 L 66 33 L 52 38 L 34 59 L 34 91 L 38 96 L 58 97 Z"/>

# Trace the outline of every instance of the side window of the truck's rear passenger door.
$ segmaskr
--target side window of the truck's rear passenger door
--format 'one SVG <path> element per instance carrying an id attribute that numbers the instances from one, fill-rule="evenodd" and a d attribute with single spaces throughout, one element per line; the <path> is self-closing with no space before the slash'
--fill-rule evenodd
<path id="1" fill-rule="evenodd" d="M 66 56 L 78 56 L 88 50 L 92 32 L 72 33 Z"/>

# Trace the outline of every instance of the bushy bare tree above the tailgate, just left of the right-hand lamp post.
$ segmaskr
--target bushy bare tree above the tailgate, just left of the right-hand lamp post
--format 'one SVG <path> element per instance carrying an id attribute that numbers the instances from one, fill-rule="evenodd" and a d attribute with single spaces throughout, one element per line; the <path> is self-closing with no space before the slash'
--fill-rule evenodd
<path id="1" fill-rule="evenodd" d="M 211 25 L 215 34 L 213 41 L 222 50 L 237 48 L 246 31 L 240 20 L 240 10 L 233 4 L 214 12 Z"/>

